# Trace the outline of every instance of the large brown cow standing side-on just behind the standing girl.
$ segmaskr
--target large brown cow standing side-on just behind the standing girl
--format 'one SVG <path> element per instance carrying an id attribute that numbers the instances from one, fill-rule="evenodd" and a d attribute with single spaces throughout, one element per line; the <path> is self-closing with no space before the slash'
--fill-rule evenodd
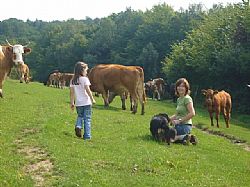
<path id="1" fill-rule="evenodd" d="M 132 113 L 137 112 L 138 99 L 141 104 L 141 114 L 145 113 L 144 72 L 141 67 L 99 64 L 90 70 L 88 77 L 91 83 L 90 89 L 102 94 L 105 106 L 109 106 L 109 91 L 118 95 L 129 92 L 133 102 Z"/>

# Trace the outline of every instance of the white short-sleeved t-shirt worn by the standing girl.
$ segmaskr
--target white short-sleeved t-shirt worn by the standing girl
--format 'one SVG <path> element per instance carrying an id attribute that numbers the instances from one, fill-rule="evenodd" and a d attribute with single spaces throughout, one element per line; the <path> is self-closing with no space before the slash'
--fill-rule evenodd
<path id="1" fill-rule="evenodd" d="M 79 85 L 70 82 L 70 87 L 74 88 L 75 106 L 92 105 L 91 99 L 85 90 L 85 85 L 90 86 L 88 77 L 79 77 Z"/>

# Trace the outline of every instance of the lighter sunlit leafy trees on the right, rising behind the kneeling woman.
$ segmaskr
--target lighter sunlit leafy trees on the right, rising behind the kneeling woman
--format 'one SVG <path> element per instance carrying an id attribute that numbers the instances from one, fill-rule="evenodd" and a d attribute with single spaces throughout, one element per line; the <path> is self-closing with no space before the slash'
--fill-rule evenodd
<path id="1" fill-rule="evenodd" d="M 250 112 L 250 7 L 214 7 L 199 28 L 172 47 L 164 72 L 199 89 L 226 90 L 233 108 Z"/>

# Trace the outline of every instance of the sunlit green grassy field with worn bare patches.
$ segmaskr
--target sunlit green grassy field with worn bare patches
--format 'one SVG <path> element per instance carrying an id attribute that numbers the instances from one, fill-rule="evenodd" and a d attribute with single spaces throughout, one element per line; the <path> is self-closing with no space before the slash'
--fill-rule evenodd
<path id="1" fill-rule="evenodd" d="M 197 146 L 154 142 L 149 122 L 154 114 L 173 114 L 170 101 L 148 100 L 146 114 L 121 110 L 116 98 L 103 107 L 96 98 L 92 140 L 74 134 L 76 112 L 69 89 L 7 80 L 0 99 L 0 186 L 250 186 L 250 117 L 233 114 L 231 128 L 210 127 L 205 109 L 196 108 L 194 124 L 246 141 L 198 128 Z M 129 104 L 127 103 L 129 106 Z"/>

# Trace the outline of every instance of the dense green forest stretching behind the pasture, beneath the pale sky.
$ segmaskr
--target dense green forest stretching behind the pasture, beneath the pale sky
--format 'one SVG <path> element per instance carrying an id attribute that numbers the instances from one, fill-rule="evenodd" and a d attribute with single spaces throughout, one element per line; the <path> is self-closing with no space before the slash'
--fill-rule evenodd
<path id="1" fill-rule="evenodd" d="M 127 8 L 104 18 L 45 22 L 16 18 L 0 21 L 0 44 L 27 44 L 25 57 L 33 81 L 44 82 L 57 69 L 73 72 L 77 61 L 138 65 L 145 81 L 169 84 L 185 77 L 193 97 L 201 89 L 225 90 L 233 112 L 250 114 L 250 8 L 238 4 L 190 5 L 175 11 L 167 4 L 134 11 Z"/>

